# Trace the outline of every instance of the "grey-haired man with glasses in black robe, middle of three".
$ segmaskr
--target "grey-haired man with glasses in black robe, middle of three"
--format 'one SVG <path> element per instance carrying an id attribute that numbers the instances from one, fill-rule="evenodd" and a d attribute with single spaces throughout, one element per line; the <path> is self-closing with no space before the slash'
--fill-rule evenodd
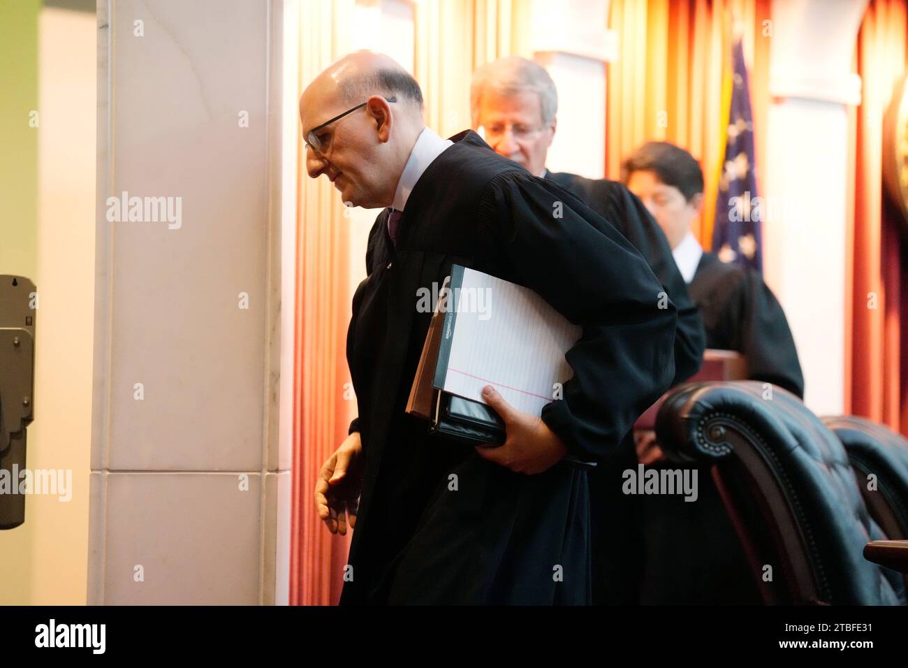
<path id="1" fill-rule="evenodd" d="M 687 294 L 666 235 L 624 184 L 551 173 L 548 147 L 558 125 L 558 91 L 545 68 L 516 55 L 483 65 L 470 85 L 473 129 L 481 128 L 499 155 L 568 189 L 633 244 L 656 274 L 678 310 L 675 377 L 695 374 L 703 361 L 706 335 L 696 304 Z M 641 499 L 624 494 L 623 474 L 636 470 L 637 453 L 627 434 L 607 462 L 589 474 L 593 543 L 593 602 L 637 603 L 643 575 Z M 621 536 L 620 542 L 616 540 Z"/>

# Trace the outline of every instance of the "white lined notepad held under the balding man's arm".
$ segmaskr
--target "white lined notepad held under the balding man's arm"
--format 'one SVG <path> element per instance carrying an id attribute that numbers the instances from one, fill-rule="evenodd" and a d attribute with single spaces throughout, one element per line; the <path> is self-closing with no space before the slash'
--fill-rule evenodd
<path id="1" fill-rule="evenodd" d="M 573 372 L 565 353 L 581 328 L 529 288 L 455 264 L 433 385 L 485 404 L 490 384 L 540 415 Z"/>

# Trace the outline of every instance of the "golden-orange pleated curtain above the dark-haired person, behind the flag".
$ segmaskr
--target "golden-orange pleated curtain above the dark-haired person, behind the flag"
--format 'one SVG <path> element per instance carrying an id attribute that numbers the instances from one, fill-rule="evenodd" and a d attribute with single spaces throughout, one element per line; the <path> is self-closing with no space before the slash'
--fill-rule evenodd
<path id="1" fill-rule="evenodd" d="M 618 57 L 608 64 L 606 175 L 646 141 L 683 146 L 700 162 L 704 210 L 694 234 L 712 244 L 716 187 L 725 145 L 723 82 L 730 67 L 732 22 L 744 27 L 755 107 L 757 182 L 765 159 L 770 0 L 613 0 L 609 27 Z"/>

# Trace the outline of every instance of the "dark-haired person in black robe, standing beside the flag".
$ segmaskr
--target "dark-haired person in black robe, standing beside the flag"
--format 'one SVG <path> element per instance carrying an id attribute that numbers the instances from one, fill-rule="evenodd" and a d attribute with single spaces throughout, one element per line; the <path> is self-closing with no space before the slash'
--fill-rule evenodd
<path id="1" fill-rule="evenodd" d="M 706 347 L 747 357 L 754 380 L 803 396 L 804 379 L 782 306 L 755 270 L 705 253 L 690 231 L 703 206 L 700 165 L 683 148 L 649 142 L 623 165 L 627 187 L 665 231 L 681 274 L 706 326 Z M 656 468 L 652 442 L 638 444 L 640 460 Z M 758 604 L 760 597 L 709 467 L 699 467 L 699 497 L 646 496 L 645 587 L 642 603 Z"/>

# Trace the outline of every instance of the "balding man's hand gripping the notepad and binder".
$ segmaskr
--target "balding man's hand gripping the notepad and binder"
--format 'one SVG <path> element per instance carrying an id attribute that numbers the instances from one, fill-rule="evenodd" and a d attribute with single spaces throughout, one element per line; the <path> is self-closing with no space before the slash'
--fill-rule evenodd
<path id="1" fill-rule="evenodd" d="M 500 447 L 478 446 L 479 456 L 516 473 L 541 474 L 568 454 L 568 448 L 542 418 L 518 411 L 491 385 L 482 389 L 482 398 L 504 420 L 507 436 Z"/>

